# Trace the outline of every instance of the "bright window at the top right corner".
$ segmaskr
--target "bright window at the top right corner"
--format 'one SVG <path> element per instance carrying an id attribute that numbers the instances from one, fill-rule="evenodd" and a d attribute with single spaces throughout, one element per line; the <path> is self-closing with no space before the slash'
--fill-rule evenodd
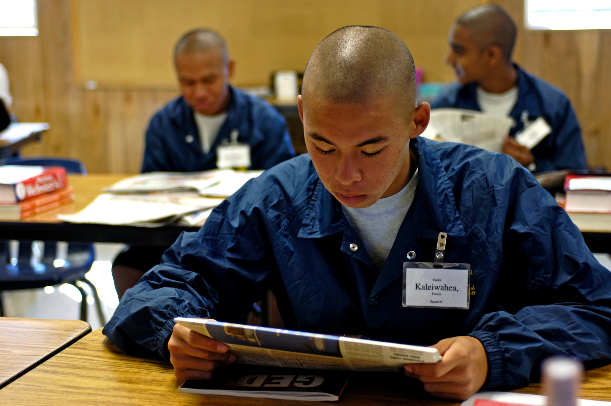
<path id="1" fill-rule="evenodd" d="M 529 29 L 611 29 L 611 0 L 525 0 Z"/>

